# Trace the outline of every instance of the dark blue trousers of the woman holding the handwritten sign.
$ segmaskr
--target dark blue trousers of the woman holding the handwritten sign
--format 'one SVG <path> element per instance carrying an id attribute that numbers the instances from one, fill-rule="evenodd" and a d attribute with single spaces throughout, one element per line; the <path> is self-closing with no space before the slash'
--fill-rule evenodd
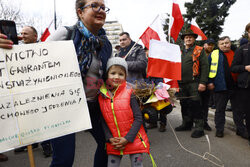
<path id="1" fill-rule="evenodd" d="M 92 129 L 90 133 L 97 143 L 94 167 L 106 167 L 108 156 L 105 150 L 105 136 L 101 124 L 101 111 L 98 101 L 88 102 Z M 75 134 L 51 140 L 53 157 L 50 167 L 72 167 L 75 157 Z"/>

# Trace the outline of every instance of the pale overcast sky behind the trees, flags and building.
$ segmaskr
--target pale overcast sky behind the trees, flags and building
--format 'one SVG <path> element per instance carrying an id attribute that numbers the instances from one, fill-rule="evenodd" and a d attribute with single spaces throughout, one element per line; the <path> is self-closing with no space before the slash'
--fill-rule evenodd
<path id="1" fill-rule="evenodd" d="M 14 1 L 21 2 L 24 13 L 38 18 L 37 22 L 44 27 L 38 31 L 45 29 L 53 19 L 53 0 Z M 182 13 L 186 11 L 184 3 L 190 1 L 192 0 L 178 0 Z M 106 6 L 111 9 L 107 20 L 118 20 L 124 31 L 129 32 L 132 39 L 137 41 L 157 14 L 170 13 L 171 2 L 172 0 L 106 0 Z M 75 0 L 56 0 L 57 15 L 62 18 L 63 25 L 72 25 L 76 22 L 74 4 Z M 226 18 L 222 35 L 228 35 L 231 39 L 241 37 L 245 25 L 250 22 L 249 6 L 250 0 L 236 1 L 229 10 L 230 14 Z"/>

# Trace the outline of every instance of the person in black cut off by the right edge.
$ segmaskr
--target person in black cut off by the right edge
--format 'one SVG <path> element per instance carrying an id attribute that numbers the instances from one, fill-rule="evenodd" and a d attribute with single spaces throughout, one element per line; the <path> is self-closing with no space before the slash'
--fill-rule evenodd
<path id="1" fill-rule="evenodd" d="M 250 145 L 250 23 L 246 25 L 245 31 L 248 34 L 248 42 L 236 50 L 232 62 L 232 72 L 239 73 L 237 78 L 238 89 L 238 108 L 239 114 L 246 115 L 246 128 Z"/>

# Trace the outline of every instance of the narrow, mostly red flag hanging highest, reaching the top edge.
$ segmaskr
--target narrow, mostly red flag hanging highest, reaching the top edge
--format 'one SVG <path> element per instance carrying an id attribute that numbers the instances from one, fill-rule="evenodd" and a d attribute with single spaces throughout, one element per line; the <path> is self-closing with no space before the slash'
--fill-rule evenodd
<path id="1" fill-rule="evenodd" d="M 180 7 L 177 3 L 177 0 L 173 0 L 172 17 L 174 21 L 170 30 L 170 36 L 173 37 L 174 40 L 176 41 L 184 25 L 184 20 L 181 14 Z"/>

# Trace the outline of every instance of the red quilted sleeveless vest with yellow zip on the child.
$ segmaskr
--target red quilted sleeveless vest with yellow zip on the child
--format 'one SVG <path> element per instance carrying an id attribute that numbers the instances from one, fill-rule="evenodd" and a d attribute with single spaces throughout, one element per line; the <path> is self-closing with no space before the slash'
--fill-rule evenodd
<path id="1" fill-rule="evenodd" d="M 124 82 L 111 98 L 107 88 L 103 85 L 98 97 L 103 118 L 113 137 L 125 137 L 129 133 L 134 122 L 133 111 L 130 106 L 132 89 Z M 107 153 L 114 155 L 149 153 L 149 142 L 143 126 L 133 142 L 128 142 L 122 151 L 113 149 L 111 143 L 107 143 Z"/>

